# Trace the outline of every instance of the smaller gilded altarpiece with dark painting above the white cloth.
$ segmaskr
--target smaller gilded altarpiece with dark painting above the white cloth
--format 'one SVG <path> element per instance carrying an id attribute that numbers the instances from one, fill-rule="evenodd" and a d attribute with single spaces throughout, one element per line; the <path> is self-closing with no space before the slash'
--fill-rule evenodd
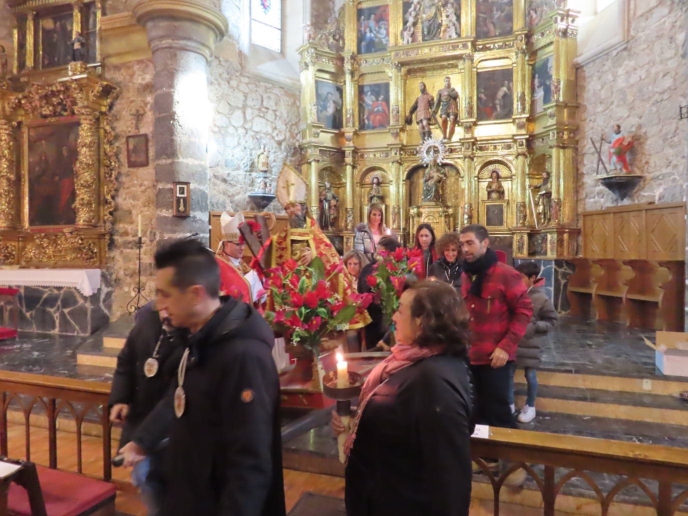
<path id="1" fill-rule="evenodd" d="M 0 264 L 97 267 L 107 261 L 116 188 L 100 78 L 100 1 L 8 2 L 17 19 L 0 78 Z"/>

